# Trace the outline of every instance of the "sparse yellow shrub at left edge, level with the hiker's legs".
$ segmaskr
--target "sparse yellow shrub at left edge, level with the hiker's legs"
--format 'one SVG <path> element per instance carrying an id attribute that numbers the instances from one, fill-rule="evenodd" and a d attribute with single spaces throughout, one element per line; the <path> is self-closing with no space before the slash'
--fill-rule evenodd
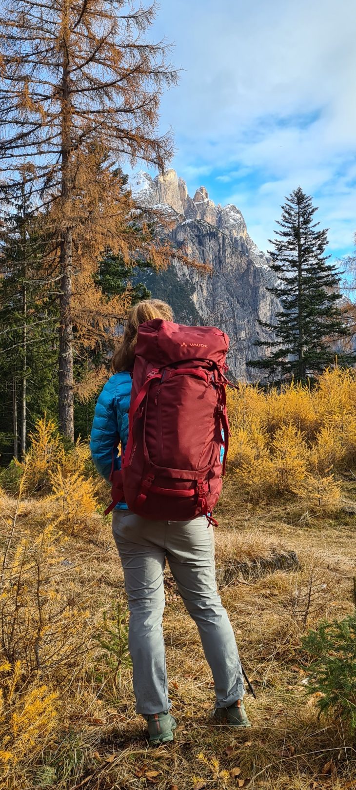
<path id="1" fill-rule="evenodd" d="M 28 506 L 29 507 L 29 506 Z M 36 502 L 33 502 L 36 510 Z M 33 526 L 31 510 L 3 513 L 0 554 L 0 619 L 2 650 L 7 658 L 20 660 L 28 676 L 59 679 L 68 663 L 82 651 L 87 627 L 86 600 L 77 594 L 73 561 L 66 559 L 67 538 L 57 521 Z"/>

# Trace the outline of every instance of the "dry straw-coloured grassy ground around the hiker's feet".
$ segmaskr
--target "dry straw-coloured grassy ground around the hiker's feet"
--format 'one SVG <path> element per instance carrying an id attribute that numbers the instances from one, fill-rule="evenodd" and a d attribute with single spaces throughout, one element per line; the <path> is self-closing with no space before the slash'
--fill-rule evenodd
<path id="1" fill-rule="evenodd" d="M 16 505 L 11 498 L 4 502 L 9 522 Z M 31 500 L 22 503 L 15 525 L 19 536 L 27 531 L 35 540 L 40 534 L 43 507 Z M 109 522 L 96 515 L 87 530 L 66 536 L 64 543 L 52 536 L 51 594 L 60 596 L 64 590 L 66 610 L 81 612 L 83 619 L 74 617 L 78 630 L 68 619 L 68 637 L 66 628 L 59 636 L 58 665 L 52 658 L 37 667 L 59 694 L 55 730 L 51 737 L 43 736 L 35 757 L 31 750 L 26 757 L 23 744 L 3 786 L 356 788 L 356 747 L 340 722 L 318 719 L 316 700 L 305 694 L 308 668 L 301 652 L 301 635 L 309 626 L 323 618 L 340 619 L 353 609 L 354 520 L 352 515 L 310 517 L 282 502 L 265 508 L 237 504 L 232 488 L 225 488 L 216 530 L 217 565 L 249 562 L 276 548 L 297 551 L 301 567 L 257 579 L 237 574 L 220 589 L 244 668 L 256 687 L 256 700 L 246 698 L 252 729 L 243 732 L 210 723 L 210 671 L 195 624 L 167 573 L 164 629 L 178 730 L 174 744 L 156 750 L 148 748 L 145 722 L 134 714 L 123 574 Z M 47 656 L 46 650 L 44 646 Z"/>

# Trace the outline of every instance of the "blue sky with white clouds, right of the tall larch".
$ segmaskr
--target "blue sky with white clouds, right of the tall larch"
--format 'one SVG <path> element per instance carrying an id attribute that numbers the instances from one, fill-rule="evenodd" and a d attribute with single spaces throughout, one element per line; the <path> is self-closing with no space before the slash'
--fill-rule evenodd
<path id="1" fill-rule="evenodd" d="M 356 231 L 355 0 L 161 0 L 150 39 L 175 44 L 180 84 L 165 94 L 172 167 L 190 194 L 235 203 L 262 250 L 286 194 L 301 186 L 330 228 Z"/>

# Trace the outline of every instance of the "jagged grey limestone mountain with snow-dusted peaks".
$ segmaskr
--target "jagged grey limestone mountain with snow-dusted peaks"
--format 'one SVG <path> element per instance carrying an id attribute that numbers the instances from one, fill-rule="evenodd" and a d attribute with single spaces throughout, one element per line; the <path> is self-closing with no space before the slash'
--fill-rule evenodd
<path id="1" fill-rule="evenodd" d="M 255 340 L 268 339 L 259 319 L 271 322 L 278 303 L 267 291 L 275 282 L 275 274 L 248 235 L 239 209 L 235 205 L 214 205 L 204 186 L 191 198 L 187 185 L 174 170 L 155 179 L 140 171 L 130 186 L 140 205 L 169 209 L 172 243 L 212 268 L 211 274 L 203 275 L 176 262 L 166 273 L 146 273 L 147 287 L 154 296 L 172 303 L 177 321 L 224 329 L 231 341 L 231 374 L 235 378 L 256 378 L 246 362 L 263 353 L 254 346 Z M 142 280 L 141 272 L 139 276 Z"/>

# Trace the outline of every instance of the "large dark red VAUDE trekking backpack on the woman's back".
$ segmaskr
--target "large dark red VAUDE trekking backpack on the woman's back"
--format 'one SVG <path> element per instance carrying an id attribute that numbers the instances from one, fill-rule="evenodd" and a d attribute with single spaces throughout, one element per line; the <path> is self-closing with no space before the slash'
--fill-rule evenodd
<path id="1" fill-rule="evenodd" d="M 146 518 L 211 516 L 229 444 L 228 348 L 229 337 L 211 326 L 155 318 L 139 327 L 129 436 L 107 512 L 124 500 Z"/>

